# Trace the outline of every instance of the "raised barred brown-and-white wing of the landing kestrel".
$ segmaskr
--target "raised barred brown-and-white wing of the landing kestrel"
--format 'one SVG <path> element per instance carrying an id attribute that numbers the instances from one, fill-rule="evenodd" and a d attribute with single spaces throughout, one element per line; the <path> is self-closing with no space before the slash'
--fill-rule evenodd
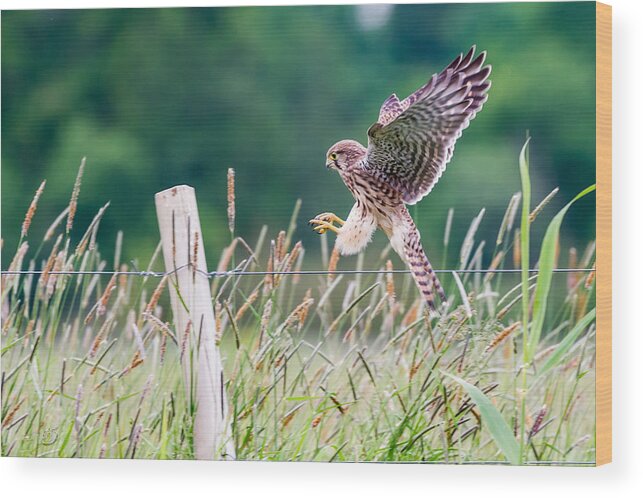
<path id="1" fill-rule="evenodd" d="M 437 183 L 462 130 L 487 101 L 491 66 L 475 46 L 400 101 L 384 101 L 368 130 L 367 168 L 415 204 Z"/>

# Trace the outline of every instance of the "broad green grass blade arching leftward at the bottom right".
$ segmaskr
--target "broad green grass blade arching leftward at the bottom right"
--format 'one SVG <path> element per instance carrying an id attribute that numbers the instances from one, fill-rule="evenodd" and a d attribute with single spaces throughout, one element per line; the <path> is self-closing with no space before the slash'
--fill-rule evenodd
<path id="1" fill-rule="evenodd" d="M 469 384 L 467 381 L 456 377 L 455 375 L 442 372 L 447 377 L 452 378 L 460 384 L 473 402 L 480 410 L 480 416 L 487 425 L 491 436 L 498 445 L 498 448 L 505 455 L 505 458 L 513 465 L 520 464 L 520 446 L 509 428 L 509 425 L 502 417 L 502 414 L 493 405 L 491 400 L 476 386 Z"/>

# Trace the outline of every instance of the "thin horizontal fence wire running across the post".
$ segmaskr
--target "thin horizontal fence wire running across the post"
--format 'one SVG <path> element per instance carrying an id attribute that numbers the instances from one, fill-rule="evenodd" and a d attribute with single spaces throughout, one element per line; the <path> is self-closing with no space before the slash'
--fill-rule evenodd
<path id="1" fill-rule="evenodd" d="M 1 275 L 42 275 L 47 273 L 48 275 L 132 275 L 139 277 L 165 277 L 173 275 L 180 270 L 191 267 L 192 264 L 188 263 L 183 266 L 179 266 L 171 271 L 159 272 L 159 271 L 132 271 L 132 270 L 122 270 L 122 271 L 109 271 L 109 270 L 69 270 L 69 271 L 48 271 L 45 270 L 0 270 Z M 391 274 L 391 273 L 411 273 L 411 270 L 284 270 L 284 271 L 251 271 L 251 270 L 228 270 L 228 271 L 211 271 L 205 272 L 203 270 L 193 269 L 194 272 L 205 275 L 208 278 L 222 278 L 222 277 L 231 277 L 231 276 L 266 276 L 266 275 L 359 275 L 359 274 Z M 538 268 L 529 268 L 527 270 L 529 273 L 537 273 L 540 270 Z M 582 273 L 595 271 L 594 268 L 554 268 L 552 270 L 554 273 Z M 514 268 L 497 268 L 497 269 L 485 269 L 485 270 L 434 270 L 435 273 L 521 273 L 521 269 Z"/>

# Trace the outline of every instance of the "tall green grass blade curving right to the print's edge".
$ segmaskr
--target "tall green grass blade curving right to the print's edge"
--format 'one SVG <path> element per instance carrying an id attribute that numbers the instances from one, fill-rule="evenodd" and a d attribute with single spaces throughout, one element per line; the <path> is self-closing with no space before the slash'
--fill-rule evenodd
<path id="1" fill-rule="evenodd" d="M 569 208 L 578 199 L 596 190 L 596 185 L 590 185 L 576 197 L 574 197 L 567 205 L 561 209 L 556 216 L 551 220 L 543 243 L 540 248 L 540 257 L 538 258 L 538 279 L 536 280 L 536 291 L 534 295 L 534 308 L 533 319 L 528 337 L 527 358 L 525 360 L 530 362 L 538 347 L 540 335 L 542 333 L 543 324 L 545 322 L 545 312 L 547 311 L 547 297 L 551 288 L 551 281 L 554 273 L 554 263 L 556 260 L 556 242 L 560 234 L 560 225 Z"/>

